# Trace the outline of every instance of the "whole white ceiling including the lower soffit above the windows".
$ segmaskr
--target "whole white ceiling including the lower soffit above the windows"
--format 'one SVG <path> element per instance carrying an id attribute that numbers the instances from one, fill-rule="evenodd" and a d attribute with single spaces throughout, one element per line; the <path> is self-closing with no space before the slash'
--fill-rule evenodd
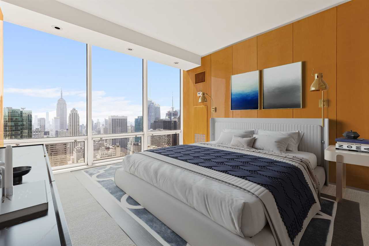
<path id="1" fill-rule="evenodd" d="M 346 1 L 0 0 L 0 7 L 4 21 L 188 70 L 201 56 Z"/>

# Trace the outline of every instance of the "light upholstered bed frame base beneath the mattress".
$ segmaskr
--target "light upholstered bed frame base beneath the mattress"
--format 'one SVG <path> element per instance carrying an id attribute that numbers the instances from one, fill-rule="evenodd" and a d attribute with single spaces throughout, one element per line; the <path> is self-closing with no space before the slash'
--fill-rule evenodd
<path id="1" fill-rule="evenodd" d="M 156 218 L 191 246 L 274 246 L 269 225 L 252 238 L 241 238 L 216 224 L 205 215 L 184 204 L 146 181 L 127 173 L 123 168 L 115 172 L 115 184 L 146 208 Z"/>

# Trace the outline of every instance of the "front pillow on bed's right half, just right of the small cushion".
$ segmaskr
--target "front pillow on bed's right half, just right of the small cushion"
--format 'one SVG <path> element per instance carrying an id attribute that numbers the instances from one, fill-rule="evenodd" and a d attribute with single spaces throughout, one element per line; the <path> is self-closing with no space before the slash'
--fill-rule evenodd
<path id="1" fill-rule="evenodd" d="M 278 153 L 286 153 L 286 148 L 290 142 L 290 137 L 285 136 L 268 136 L 268 135 L 254 135 L 255 141 L 252 148 L 268 150 Z"/>

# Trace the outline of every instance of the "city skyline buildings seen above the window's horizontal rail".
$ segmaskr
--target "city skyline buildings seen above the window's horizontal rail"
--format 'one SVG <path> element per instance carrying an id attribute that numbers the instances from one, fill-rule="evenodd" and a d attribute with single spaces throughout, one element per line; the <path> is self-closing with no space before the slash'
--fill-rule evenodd
<path id="1" fill-rule="evenodd" d="M 170 107 L 165 113 L 165 117 L 161 118 L 161 106 L 154 101 L 148 99 L 148 130 L 176 130 L 180 129 L 180 111 L 175 107 Z M 45 112 L 49 117 L 49 112 Z M 5 139 L 22 139 L 22 138 L 49 138 L 60 136 L 80 136 L 87 134 L 87 125 L 80 124 L 80 116 L 76 108 L 72 108 L 67 112 L 67 104 L 63 99 L 63 92 L 60 92 L 60 98 L 56 103 L 56 117 L 51 122 L 49 118 L 38 117 L 32 115 L 32 110 L 25 108 L 15 109 L 12 107 L 4 108 L 4 138 Z M 67 115 L 69 115 L 67 117 Z M 119 122 L 119 127 L 115 121 L 124 119 Z M 14 127 L 11 127 L 14 125 Z M 101 124 L 100 119 L 96 122 L 92 120 L 93 134 L 117 134 L 128 132 L 142 132 L 143 116 L 139 115 L 133 122 L 128 121 L 128 117 L 124 115 L 110 115 L 108 119 L 104 118 Z M 138 142 L 138 138 L 135 138 Z M 114 143 L 113 143 L 114 142 Z M 114 145 L 116 141 L 110 141 Z M 122 145 L 123 142 L 120 142 Z M 70 148 L 72 152 L 76 145 Z M 127 143 L 124 143 L 127 149 Z M 123 149 L 122 149 L 123 150 Z"/>

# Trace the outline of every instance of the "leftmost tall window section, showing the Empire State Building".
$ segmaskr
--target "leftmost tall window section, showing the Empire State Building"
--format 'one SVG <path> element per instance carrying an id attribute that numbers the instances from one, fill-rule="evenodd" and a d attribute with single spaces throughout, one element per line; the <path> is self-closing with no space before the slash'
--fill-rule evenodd
<path id="1" fill-rule="evenodd" d="M 86 44 L 4 22 L 4 140 L 43 140 L 52 166 L 85 163 L 86 60 Z"/>

